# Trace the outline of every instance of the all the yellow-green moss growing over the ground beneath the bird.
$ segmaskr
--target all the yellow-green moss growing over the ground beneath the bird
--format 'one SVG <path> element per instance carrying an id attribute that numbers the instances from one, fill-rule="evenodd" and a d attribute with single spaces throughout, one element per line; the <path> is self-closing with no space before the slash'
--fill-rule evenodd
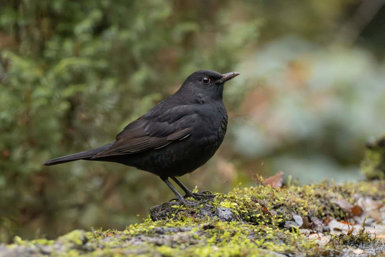
<path id="1" fill-rule="evenodd" d="M 346 245 L 363 242 L 370 245 L 373 241 L 360 230 L 354 236 L 333 237 L 330 244 L 321 246 L 317 240 L 308 240 L 298 228 L 285 228 L 284 222 L 293 220 L 293 215 L 342 218 L 343 212 L 333 199 L 343 198 L 350 203 L 354 202 L 353 195 L 384 199 L 384 186 L 384 181 L 362 181 L 278 189 L 262 184 L 238 187 L 228 194 L 216 194 L 210 205 L 158 206 L 157 210 L 166 210 L 167 215 L 158 220 L 148 217 L 142 223 L 128 225 L 123 231 L 74 230 L 46 243 L 62 245 L 62 248 L 55 248 L 64 249 L 61 252 L 54 252 L 54 248 L 50 252 L 59 256 L 338 255 Z M 232 221 L 224 222 L 219 216 L 210 216 L 217 208 L 231 208 Z M 36 247 L 44 242 L 16 237 L 12 247 L 13 250 L 20 245 Z"/>

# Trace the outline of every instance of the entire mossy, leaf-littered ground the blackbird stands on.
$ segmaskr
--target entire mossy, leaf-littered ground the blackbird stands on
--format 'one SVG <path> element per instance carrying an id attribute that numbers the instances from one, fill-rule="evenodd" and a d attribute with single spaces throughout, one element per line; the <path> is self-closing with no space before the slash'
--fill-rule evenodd
<path id="1" fill-rule="evenodd" d="M 344 232 L 330 221 L 347 227 L 341 223 L 346 219 L 369 219 L 373 212 L 362 199 L 375 203 L 382 215 L 384 195 L 384 181 L 272 188 L 261 179 L 196 207 L 154 206 L 147 219 L 124 231 L 74 230 L 56 240 L 16 237 L 0 245 L 0 256 L 336 256 L 357 249 L 382 254 L 383 237 L 367 232 L 365 222 Z M 370 226 L 373 222 L 382 220 Z"/>

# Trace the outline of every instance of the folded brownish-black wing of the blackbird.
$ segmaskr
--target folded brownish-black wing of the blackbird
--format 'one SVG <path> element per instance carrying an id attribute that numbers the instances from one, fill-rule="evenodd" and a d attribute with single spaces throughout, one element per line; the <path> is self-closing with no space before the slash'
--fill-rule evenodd
<path id="1" fill-rule="evenodd" d="M 128 124 L 117 134 L 116 141 L 110 148 L 93 158 L 162 148 L 173 141 L 187 138 L 197 117 L 198 114 L 191 108 L 183 106 L 176 106 L 159 115 L 147 113 Z"/>

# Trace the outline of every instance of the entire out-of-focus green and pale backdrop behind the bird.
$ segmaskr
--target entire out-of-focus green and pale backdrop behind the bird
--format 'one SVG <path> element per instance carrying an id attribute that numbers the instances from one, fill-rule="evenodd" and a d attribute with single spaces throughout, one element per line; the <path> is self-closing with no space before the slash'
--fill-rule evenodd
<path id="1" fill-rule="evenodd" d="M 124 229 L 174 197 L 154 175 L 44 161 L 112 141 L 194 71 L 226 83 L 228 133 L 181 178 L 227 192 L 283 171 L 362 178 L 385 132 L 385 0 L 0 0 L 0 242 Z"/>

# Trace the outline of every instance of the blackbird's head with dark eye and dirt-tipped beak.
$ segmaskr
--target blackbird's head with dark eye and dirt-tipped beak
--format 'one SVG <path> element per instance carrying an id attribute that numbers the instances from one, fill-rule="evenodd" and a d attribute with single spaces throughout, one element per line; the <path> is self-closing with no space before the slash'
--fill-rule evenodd
<path id="1" fill-rule="evenodd" d="M 238 76 L 238 72 L 221 74 L 211 70 L 196 71 L 183 82 L 181 89 L 192 92 L 199 102 L 222 99 L 223 85 L 226 81 Z"/>

